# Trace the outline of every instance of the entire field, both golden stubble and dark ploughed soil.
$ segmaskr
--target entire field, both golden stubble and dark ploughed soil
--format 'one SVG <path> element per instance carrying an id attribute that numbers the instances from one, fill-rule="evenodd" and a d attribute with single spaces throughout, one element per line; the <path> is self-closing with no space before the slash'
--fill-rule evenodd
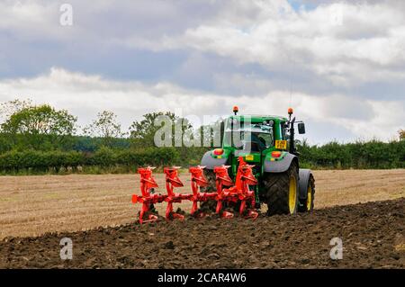
<path id="1" fill-rule="evenodd" d="M 140 227 L 130 202 L 139 193 L 138 175 L 3 176 L 0 267 L 404 268 L 405 170 L 316 171 L 315 177 L 311 214 Z M 156 178 L 163 187 L 164 176 Z M 188 175 L 181 178 L 189 193 Z M 190 203 L 180 207 L 189 211 Z M 58 257 L 63 237 L 75 244 L 71 262 Z M 344 240 L 338 262 L 329 259 L 335 237 Z"/>

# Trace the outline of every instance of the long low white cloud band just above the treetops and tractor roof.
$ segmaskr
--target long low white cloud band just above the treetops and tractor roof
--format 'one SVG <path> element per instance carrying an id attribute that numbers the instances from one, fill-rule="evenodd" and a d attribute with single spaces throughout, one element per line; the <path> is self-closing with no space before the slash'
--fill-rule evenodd
<path id="1" fill-rule="evenodd" d="M 391 139 L 405 121 L 403 101 L 363 101 L 339 94 L 291 96 L 284 91 L 234 97 L 187 90 L 166 82 L 146 85 L 137 81 L 112 81 L 56 67 L 41 76 L 0 81 L 0 100 L 16 97 L 67 109 L 78 116 L 82 126 L 103 110 L 116 112 L 128 127 L 146 112 L 197 115 L 202 121 L 203 115 L 229 114 L 235 104 L 244 114 L 278 115 L 285 114 L 293 104 L 297 117 L 314 125 L 309 127 L 311 133 L 307 135 L 311 142 L 328 140 L 321 133 L 326 124 L 338 130 L 339 140 Z"/>

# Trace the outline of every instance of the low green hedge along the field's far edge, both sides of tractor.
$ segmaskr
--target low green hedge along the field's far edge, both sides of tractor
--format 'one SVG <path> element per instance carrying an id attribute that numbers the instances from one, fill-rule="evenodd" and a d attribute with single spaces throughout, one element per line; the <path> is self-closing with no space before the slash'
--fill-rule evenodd
<path id="1" fill-rule="evenodd" d="M 299 145 L 303 168 L 405 168 L 405 141 Z M 196 166 L 207 148 L 112 149 L 79 151 L 8 151 L 0 154 L 0 174 L 89 174 L 135 172 L 139 166 Z"/>

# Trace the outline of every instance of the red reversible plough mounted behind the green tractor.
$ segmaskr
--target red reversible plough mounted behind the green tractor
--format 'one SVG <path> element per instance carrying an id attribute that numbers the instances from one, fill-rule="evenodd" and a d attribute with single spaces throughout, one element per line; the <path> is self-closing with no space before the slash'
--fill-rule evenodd
<path id="1" fill-rule="evenodd" d="M 198 202 L 216 201 L 215 213 L 222 218 L 233 218 L 234 212 L 225 211 L 224 206 L 238 206 L 238 214 L 247 219 L 257 219 L 258 212 L 255 210 L 255 192 L 249 189 L 250 185 L 256 185 L 257 179 L 252 173 L 252 167 L 247 165 L 243 157 L 238 159 L 238 173 L 235 183 L 229 177 L 229 166 L 216 166 L 214 173 L 216 175 L 216 191 L 208 193 L 201 192 L 202 187 L 209 185 L 203 174 L 204 166 L 193 166 L 189 168 L 191 174 L 192 194 L 175 193 L 175 187 L 182 187 L 184 184 L 178 177 L 180 167 L 166 167 L 166 194 L 155 192 L 157 182 L 152 171 L 154 167 L 139 168 L 140 175 L 140 193 L 133 194 L 132 202 L 141 203 L 139 211 L 139 223 L 145 223 L 158 220 L 154 205 L 160 202 L 167 202 L 166 220 L 184 220 L 184 215 L 173 211 L 173 203 L 184 201 L 192 202 L 191 215 L 194 218 L 203 218 L 208 214 L 198 209 Z"/>

